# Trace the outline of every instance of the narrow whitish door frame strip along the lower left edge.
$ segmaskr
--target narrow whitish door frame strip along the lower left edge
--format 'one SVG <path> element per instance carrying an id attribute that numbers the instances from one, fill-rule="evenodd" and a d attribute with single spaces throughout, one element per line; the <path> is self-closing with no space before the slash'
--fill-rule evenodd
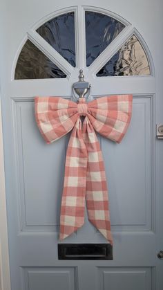
<path id="1" fill-rule="evenodd" d="M 1 97 L 1 96 L 0 96 Z M 0 290 L 11 290 L 0 99 Z"/>

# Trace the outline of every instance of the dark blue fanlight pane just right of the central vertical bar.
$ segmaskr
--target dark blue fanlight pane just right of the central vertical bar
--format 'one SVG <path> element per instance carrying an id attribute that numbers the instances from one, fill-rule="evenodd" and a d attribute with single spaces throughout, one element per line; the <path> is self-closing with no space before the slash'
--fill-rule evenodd
<path id="1" fill-rule="evenodd" d="M 112 17 L 86 11 L 86 66 L 94 62 L 124 27 Z"/>

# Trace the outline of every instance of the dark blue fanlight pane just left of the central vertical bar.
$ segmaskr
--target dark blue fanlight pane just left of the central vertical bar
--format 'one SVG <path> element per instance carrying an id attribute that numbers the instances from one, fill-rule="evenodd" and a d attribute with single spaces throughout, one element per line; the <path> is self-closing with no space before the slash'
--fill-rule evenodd
<path id="1" fill-rule="evenodd" d="M 72 66 L 75 64 L 75 17 L 74 12 L 59 15 L 37 29 L 50 46 Z"/>

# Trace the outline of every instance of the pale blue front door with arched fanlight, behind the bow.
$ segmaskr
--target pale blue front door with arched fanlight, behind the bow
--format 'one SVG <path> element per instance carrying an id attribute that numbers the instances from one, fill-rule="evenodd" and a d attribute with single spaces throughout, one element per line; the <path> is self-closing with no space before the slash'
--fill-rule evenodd
<path id="1" fill-rule="evenodd" d="M 99 5 L 100 4 L 100 5 Z M 12 290 L 161 290 L 162 3 L 6 0 L 1 10 L 1 102 Z M 91 96 L 133 94 L 121 144 L 99 136 L 113 260 L 58 260 L 58 244 L 105 244 L 86 215 L 59 242 L 68 136 L 46 145 L 35 96 L 72 98 L 79 69 Z"/>

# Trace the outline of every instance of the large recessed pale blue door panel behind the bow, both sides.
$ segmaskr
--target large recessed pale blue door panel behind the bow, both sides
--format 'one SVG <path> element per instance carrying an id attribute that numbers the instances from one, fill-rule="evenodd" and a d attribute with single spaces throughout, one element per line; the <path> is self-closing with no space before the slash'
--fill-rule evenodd
<path id="1" fill-rule="evenodd" d="M 69 134 L 46 145 L 37 129 L 33 100 L 22 102 L 17 99 L 13 107 L 17 136 L 15 150 L 19 159 L 15 171 L 21 176 L 17 196 L 20 199 L 17 211 L 20 212 L 20 224 L 23 226 L 20 230 L 53 232 L 59 226 L 63 168 Z M 152 230 L 152 188 L 149 182 L 151 109 L 149 96 L 133 100 L 131 125 L 121 145 L 115 145 L 99 136 L 111 208 L 116 209 L 111 212 L 113 231 Z M 129 208 L 126 201 L 130 204 Z"/>

